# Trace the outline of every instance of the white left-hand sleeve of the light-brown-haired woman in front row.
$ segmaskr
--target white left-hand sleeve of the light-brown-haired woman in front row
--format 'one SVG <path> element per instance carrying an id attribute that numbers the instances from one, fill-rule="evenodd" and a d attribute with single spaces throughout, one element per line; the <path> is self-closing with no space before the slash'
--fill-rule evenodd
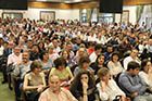
<path id="1" fill-rule="evenodd" d="M 100 99 L 101 99 L 102 101 L 107 101 L 107 100 L 109 100 L 109 94 L 105 93 L 105 92 L 103 92 L 103 91 L 101 90 L 100 83 L 97 84 L 97 89 L 98 89 L 98 91 L 99 91 L 99 97 L 100 97 Z"/>

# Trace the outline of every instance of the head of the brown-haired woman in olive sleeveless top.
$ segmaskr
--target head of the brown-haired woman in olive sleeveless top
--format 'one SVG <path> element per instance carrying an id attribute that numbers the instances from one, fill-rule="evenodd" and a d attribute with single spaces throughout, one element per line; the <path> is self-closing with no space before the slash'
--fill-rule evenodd
<path id="1" fill-rule="evenodd" d="M 33 61 L 33 63 L 30 64 L 30 71 L 35 74 L 39 74 L 41 72 L 41 62 L 39 60 L 35 60 Z"/>

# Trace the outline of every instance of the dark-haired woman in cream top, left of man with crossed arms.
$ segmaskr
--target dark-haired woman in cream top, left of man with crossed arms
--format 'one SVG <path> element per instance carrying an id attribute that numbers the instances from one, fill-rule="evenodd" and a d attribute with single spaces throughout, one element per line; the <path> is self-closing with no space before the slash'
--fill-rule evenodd
<path id="1" fill-rule="evenodd" d="M 111 61 L 107 63 L 107 67 L 110 68 L 111 75 L 114 77 L 117 76 L 121 72 L 124 71 L 121 62 L 118 61 L 118 52 L 114 52 L 111 56 Z"/>

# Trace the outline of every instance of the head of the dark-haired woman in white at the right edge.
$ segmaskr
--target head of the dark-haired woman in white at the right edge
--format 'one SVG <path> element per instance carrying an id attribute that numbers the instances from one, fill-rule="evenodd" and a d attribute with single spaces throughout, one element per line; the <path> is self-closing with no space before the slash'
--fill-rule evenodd
<path id="1" fill-rule="evenodd" d="M 144 73 L 149 73 L 149 68 L 151 67 L 151 61 L 144 59 L 142 62 L 141 62 L 141 70 L 140 71 L 143 71 Z"/>

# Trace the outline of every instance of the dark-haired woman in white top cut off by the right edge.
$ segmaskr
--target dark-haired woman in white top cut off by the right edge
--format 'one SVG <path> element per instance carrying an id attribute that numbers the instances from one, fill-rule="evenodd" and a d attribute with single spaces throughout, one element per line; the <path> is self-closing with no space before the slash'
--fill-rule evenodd
<path id="1" fill-rule="evenodd" d="M 144 59 L 141 62 L 141 71 L 139 72 L 139 76 L 148 86 L 152 87 L 152 80 L 150 80 L 150 76 L 149 76 L 150 67 L 151 67 L 151 62 Z"/>

